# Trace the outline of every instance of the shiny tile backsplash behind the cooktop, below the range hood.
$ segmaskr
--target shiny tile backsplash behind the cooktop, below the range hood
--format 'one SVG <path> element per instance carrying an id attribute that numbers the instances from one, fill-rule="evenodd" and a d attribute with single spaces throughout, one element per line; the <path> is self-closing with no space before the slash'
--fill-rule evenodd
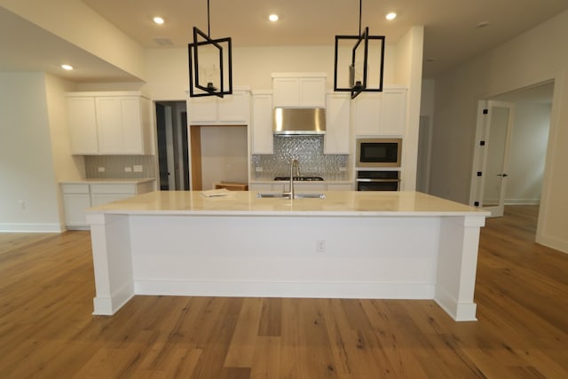
<path id="1" fill-rule="evenodd" d="M 274 154 L 253 154 L 252 178 L 272 180 L 290 175 L 290 159 L 300 162 L 300 174 L 326 180 L 347 180 L 349 155 L 323 154 L 323 136 L 274 136 Z"/>

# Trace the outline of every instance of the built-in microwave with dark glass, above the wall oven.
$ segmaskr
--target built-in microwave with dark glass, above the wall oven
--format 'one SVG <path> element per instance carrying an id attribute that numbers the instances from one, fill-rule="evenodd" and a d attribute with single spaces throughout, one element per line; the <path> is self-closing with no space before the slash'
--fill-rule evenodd
<path id="1" fill-rule="evenodd" d="M 356 150 L 356 167 L 400 167 L 402 138 L 357 138 Z"/>

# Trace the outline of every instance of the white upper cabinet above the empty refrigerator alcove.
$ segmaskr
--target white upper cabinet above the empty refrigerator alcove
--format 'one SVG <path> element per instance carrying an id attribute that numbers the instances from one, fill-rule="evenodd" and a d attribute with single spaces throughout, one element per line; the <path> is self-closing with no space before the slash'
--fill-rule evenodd
<path id="1" fill-rule="evenodd" d="M 247 125 L 250 113 L 249 91 L 233 91 L 223 98 L 203 96 L 187 100 L 192 125 Z"/>

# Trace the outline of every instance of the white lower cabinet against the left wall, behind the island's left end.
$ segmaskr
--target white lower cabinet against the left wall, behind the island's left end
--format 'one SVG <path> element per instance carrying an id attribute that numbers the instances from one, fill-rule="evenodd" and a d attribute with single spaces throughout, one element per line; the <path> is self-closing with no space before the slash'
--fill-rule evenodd
<path id="1" fill-rule="evenodd" d="M 154 183 L 62 183 L 65 225 L 68 229 L 86 229 L 85 209 L 154 191 Z"/>

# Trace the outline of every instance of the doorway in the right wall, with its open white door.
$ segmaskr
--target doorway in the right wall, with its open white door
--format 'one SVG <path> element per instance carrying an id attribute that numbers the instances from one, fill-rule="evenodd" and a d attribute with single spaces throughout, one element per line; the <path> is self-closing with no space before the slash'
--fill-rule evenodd
<path id="1" fill-rule="evenodd" d="M 501 217 L 507 205 L 540 204 L 553 91 L 554 82 L 547 82 L 480 101 L 470 205 L 486 207 L 493 217 Z M 486 129 L 487 124 L 493 125 L 493 120 L 483 110 L 489 109 L 492 102 L 501 108 L 505 104 L 513 106 L 515 115 L 509 136 L 499 128 L 492 136 L 491 130 Z M 493 114 L 503 122 L 504 110 L 496 109 Z M 500 142 L 495 143 L 496 140 Z M 504 168 L 491 166 L 492 148 L 493 160 L 503 160 Z M 502 193 L 497 195 L 498 191 Z"/>

